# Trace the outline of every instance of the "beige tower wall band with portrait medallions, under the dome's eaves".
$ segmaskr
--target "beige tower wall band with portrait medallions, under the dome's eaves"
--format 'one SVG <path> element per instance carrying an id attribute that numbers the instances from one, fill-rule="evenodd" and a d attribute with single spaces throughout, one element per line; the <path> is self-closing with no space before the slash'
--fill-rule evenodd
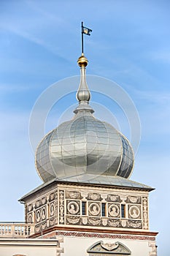
<path id="1" fill-rule="evenodd" d="M 49 227 L 149 230 L 148 192 L 140 189 L 55 184 L 26 199 L 35 233 Z"/>

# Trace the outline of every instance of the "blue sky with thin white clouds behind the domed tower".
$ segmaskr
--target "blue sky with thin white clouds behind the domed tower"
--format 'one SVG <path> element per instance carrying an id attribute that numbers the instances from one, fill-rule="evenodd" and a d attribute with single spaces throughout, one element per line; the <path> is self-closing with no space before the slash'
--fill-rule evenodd
<path id="1" fill-rule="evenodd" d="M 142 133 L 131 179 L 156 188 L 150 193 L 150 230 L 159 231 L 159 255 L 169 255 L 169 11 L 170 1 L 156 0 L 0 1 L 1 221 L 23 221 L 18 199 L 41 184 L 29 143 L 31 110 L 50 85 L 79 75 L 83 20 L 93 29 L 85 37 L 88 75 L 115 81 L 139 113 Z M 95 93 L 92 99 L 113 113 L 128 137 L 128 121 L 115 102 Z M 52 108 L 46 132 L 68 102 L 76 104 L 73 93 Z"/>

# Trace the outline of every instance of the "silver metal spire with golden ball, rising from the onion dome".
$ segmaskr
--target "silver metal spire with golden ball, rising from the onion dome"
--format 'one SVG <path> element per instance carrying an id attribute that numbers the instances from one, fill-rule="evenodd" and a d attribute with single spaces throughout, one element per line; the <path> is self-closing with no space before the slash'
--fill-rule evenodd
<path id="1" fill-rule="evenodd" d="M 77 60 L 77 63 L 80 67 L 80 86 L 76 94 L 79 106 L 74 110 L 74 113 L 77 113 L 79 110 L 89 110 L 90 113 L 93 113 L 94 110 L 89 105 L 91 94 L 85 75 L 85 67 L 88 66 L 88 59 L 84 56 L 84 53 L 82 53 L 82 56 Z"/>

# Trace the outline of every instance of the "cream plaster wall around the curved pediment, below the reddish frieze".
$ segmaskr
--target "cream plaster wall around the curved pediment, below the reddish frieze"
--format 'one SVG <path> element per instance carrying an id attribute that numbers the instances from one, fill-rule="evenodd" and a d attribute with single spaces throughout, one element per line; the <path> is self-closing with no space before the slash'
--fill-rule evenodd
<path id="1" fill-rule="evenodd" d="M 149 256 L 151 248 L 148 246 L 148 241 L 136 241 L 125 239 L 104 239 L 104 238 L 63 238 L 63 256 L 88 256 L 87 249 L 98 241 L 104 243 L 115 243 L 119 241 L 131 250 L 131 256 Z"/>

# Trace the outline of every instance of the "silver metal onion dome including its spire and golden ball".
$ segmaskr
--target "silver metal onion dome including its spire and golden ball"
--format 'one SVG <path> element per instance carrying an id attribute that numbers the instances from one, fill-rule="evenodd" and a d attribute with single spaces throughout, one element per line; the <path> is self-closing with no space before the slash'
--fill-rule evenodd
<path id="1" fill-rule="evenodd" d="M 53 178 L 77 182 L 90 175 L 129 178 L 134 167 L 134 153 L 128 139 L 107 122 L 93 116 L 85 68 L 88 59 L 78 59 L 80 86 L 79 105 L 74 117 L 49 132 L 36 149 L 36 170 L 47 182 Z"/>

